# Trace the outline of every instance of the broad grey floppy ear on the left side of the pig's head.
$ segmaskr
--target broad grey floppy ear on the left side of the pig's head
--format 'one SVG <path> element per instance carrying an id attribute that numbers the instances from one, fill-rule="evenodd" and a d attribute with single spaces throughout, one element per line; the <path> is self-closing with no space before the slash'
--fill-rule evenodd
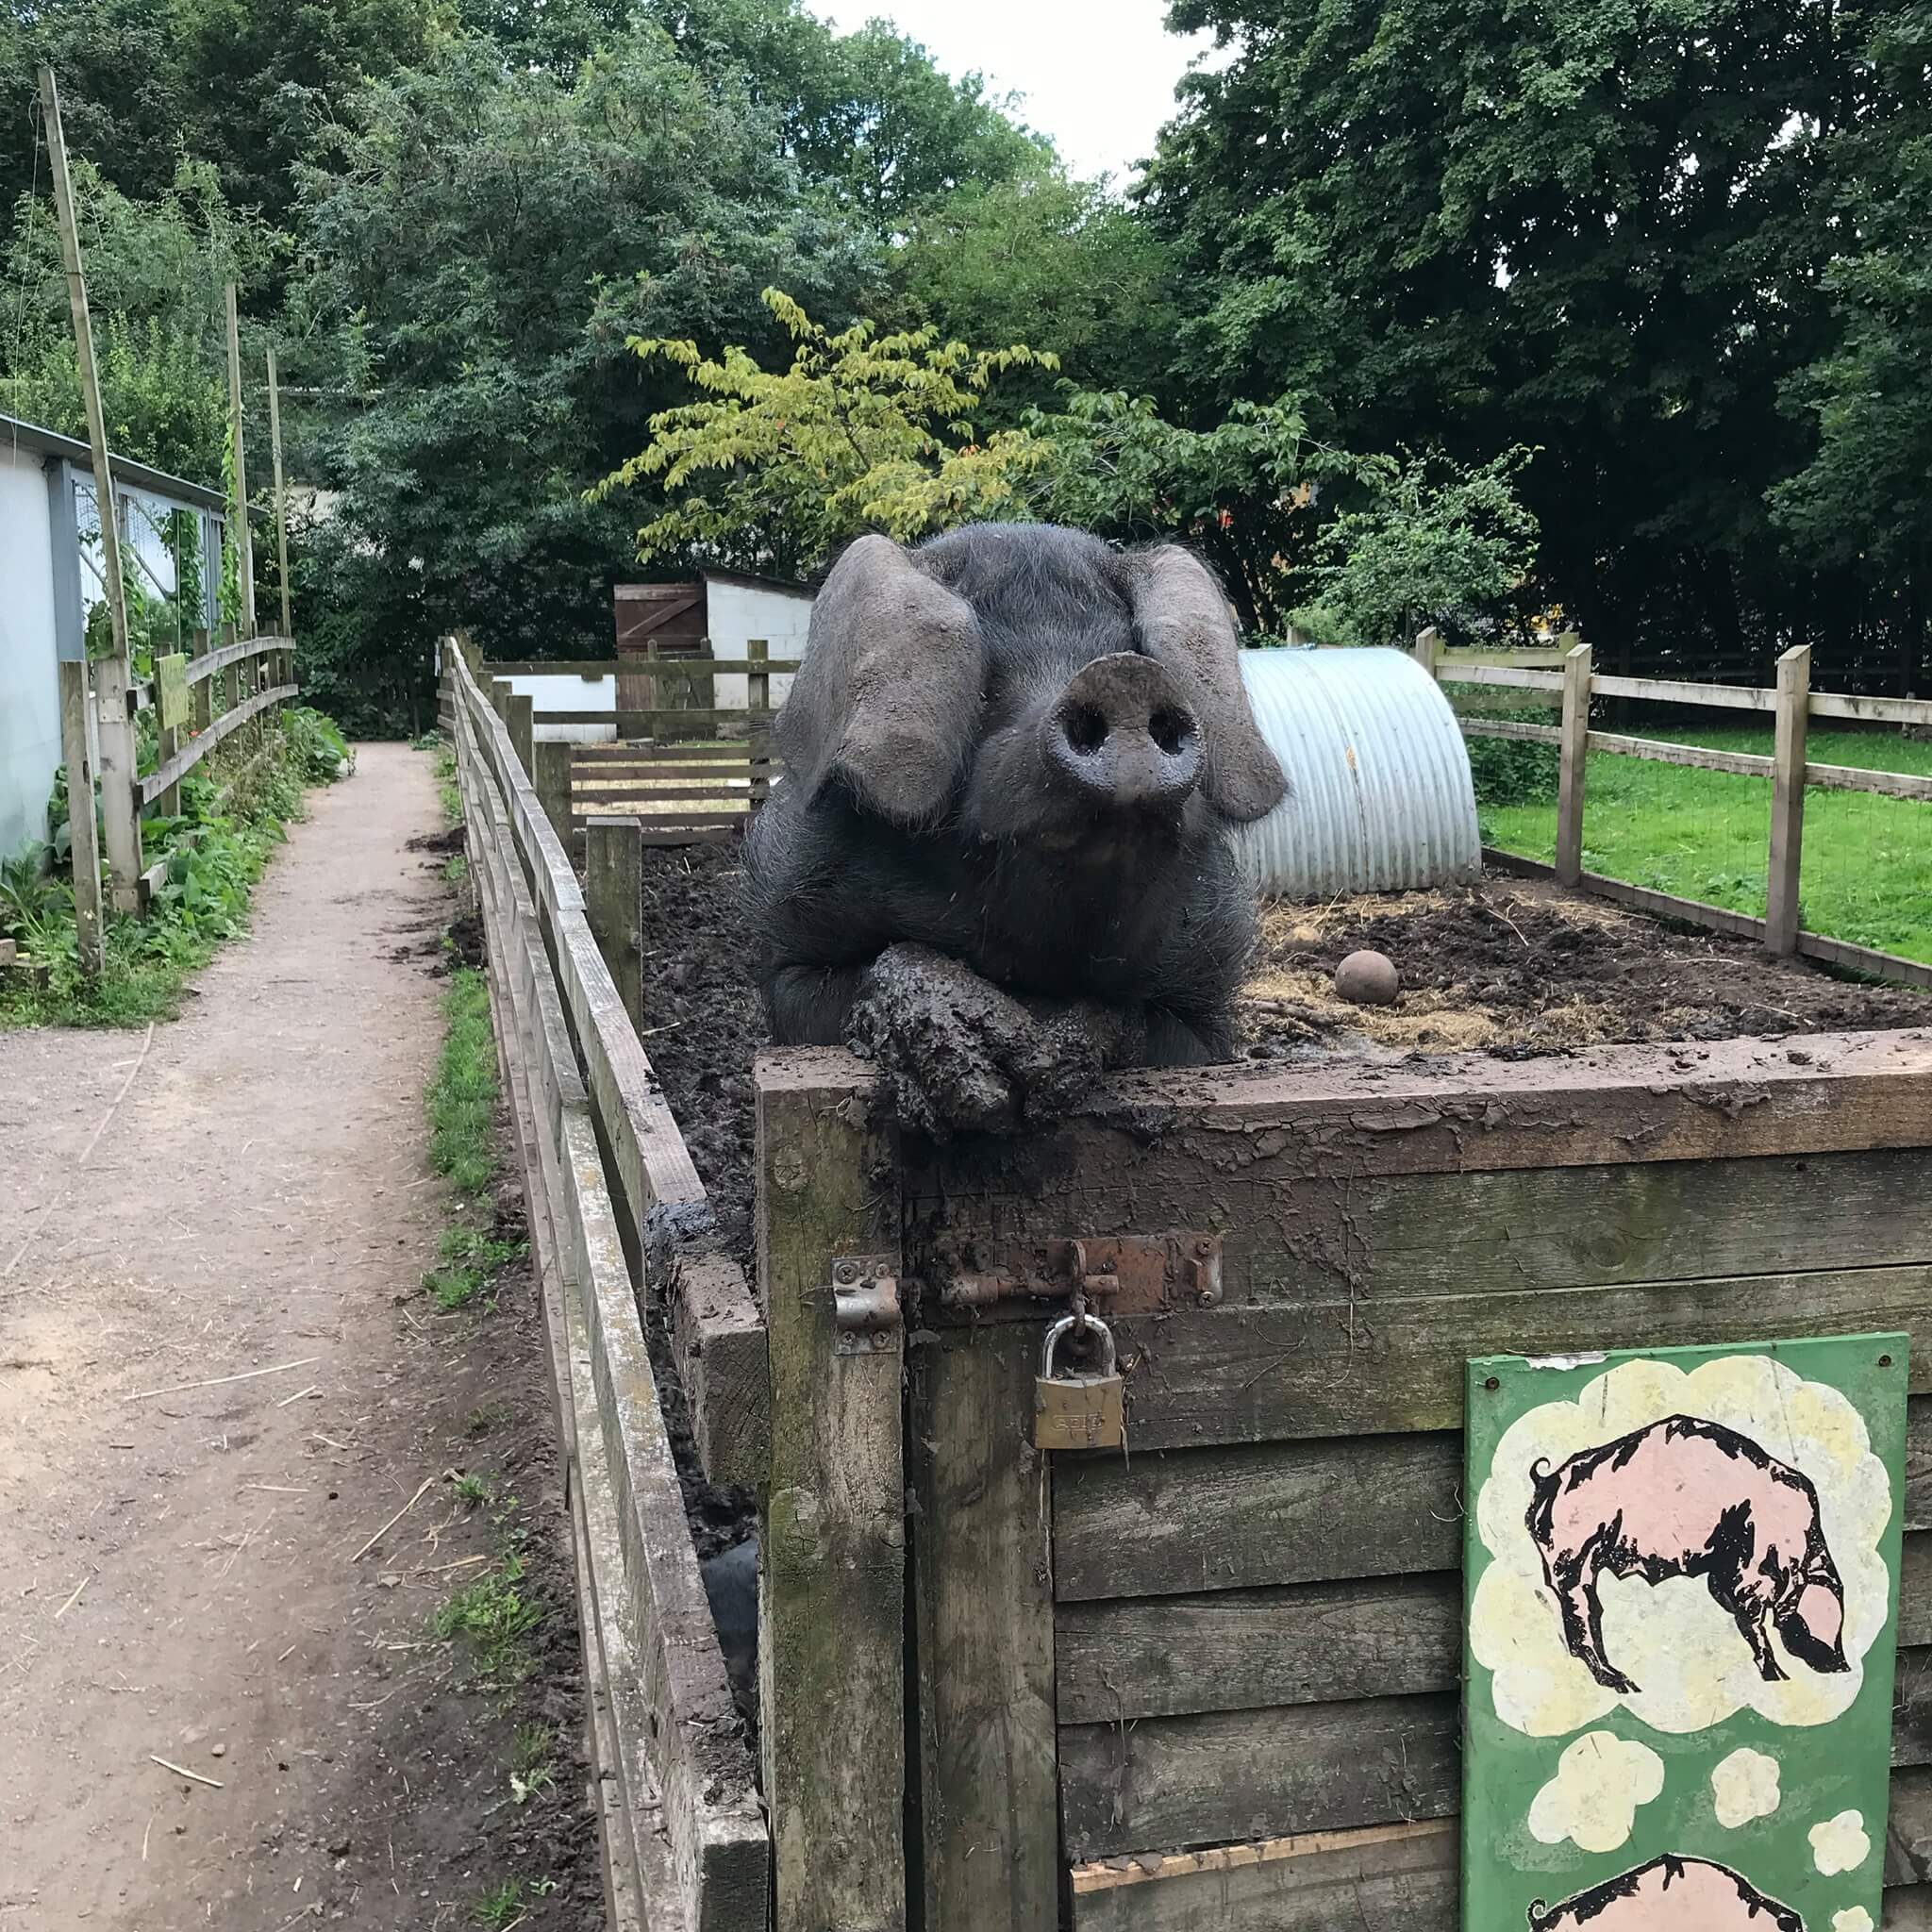
<path id="1" fill-rule="evenodd" d="M 779 752 L 815 792 L 844 779 L 902 825 L 931 817 L 980 728 L 980 624 L 891 537 L 860 537 L 811 607 Z"/>

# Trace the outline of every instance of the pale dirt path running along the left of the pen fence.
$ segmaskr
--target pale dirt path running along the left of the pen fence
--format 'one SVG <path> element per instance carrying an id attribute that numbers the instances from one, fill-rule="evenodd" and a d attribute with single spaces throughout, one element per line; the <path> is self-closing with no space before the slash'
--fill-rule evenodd
<path id="1" fill-rule="evenodd" d="M 504 1882 L 601 1922 L 527 1281 L 417 1294 L 429 759 L 363 748 L 311 813 L 145 1051 L 0 1036 L 0 1932 L 429 1932 Z M 427 1621 L 520 1542 L 537 1669 L 479 1689 Z"/>

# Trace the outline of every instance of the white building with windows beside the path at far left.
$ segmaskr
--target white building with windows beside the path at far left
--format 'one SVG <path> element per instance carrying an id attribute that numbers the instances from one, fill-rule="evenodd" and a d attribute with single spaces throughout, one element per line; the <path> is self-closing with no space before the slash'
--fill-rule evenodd
<path id="1" fill-rule="evenodd" d="M 213 628 L 220 493 L 116 456 L 114 498 L 129 568 L 155 595 L 174 593 L 168 512 L 199 520 L 207 601 L 199 622 Z M 0 415 L 0 852 L 46 837 L 46 794 L 60 769 L 56 667 L 85 655 L 87 612 L 102 593 L 87 444 Z"/>

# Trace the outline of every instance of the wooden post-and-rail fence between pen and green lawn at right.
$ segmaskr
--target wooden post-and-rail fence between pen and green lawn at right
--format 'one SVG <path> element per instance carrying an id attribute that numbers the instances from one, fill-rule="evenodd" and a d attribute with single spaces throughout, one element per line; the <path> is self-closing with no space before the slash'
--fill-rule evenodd
<path id="1" fill-rule="evenodd" d="M 1752 690 L 1731 684 L 1673 684 L 1662 678 L 1602 676 L 1592 668 L 1588 643 L 1571 641 L 1563 653 L 1563 668 L 1544 668 L 1548 653 L 1520 653 L 1519 663 L 1499 663 L 1497 653 L 1463 655 L 1445 651 L 1434 630 L 1416 638 L 1414 657 L 1443 684 L 1497 686 L 1505 690 L 1542 692 L 1561 699 L 1555 724 L 1534 724 L 1520 719 L 1464 717 L 1466 738 L 1513 738 L 1530 744 L 1549 744 L 1561 753 L 1557 782 L 1555 864 L 1542 866 L 1515 854 L 1486 854 L 1513 871 L 1549 875 L 1563 885 L 1615 898 L 1644 912 L 1685 920 L 1714 931 L 1758 939 L 1779 956 L 1803 952 L 1808 958 L 1849 966 L 1855 972 L 1899 980 L 1907 985 L 1932 987 L 1932 966 L 1880 952 L 1874 947 L 1855 947 L 1803 927 L 1799 908 L 1799 867 L 1804 848 L 1804 798 L 1812 790 L 1868 792 L 1880 798 L 1905 798 L 1932 804 L 1932 777 L 1897 771 L 1864 771 L 1855 765 L 1822 765 L 1804 755 L 1806 726 L 1812 719 L 1849 719 L 1857 723 L 1922 724 L 1932 728 L 1932 699 L 1857 697 L 1849 692 L 1810 690 L 1810 651 L 1797 645 L 1777 663 L 1777 684 L 1772 690 Z M 1644 703 L 1685 705 L 1692 709 L 1770 711 L 1774 719 L 1774 750 L 1770 755 L 1750 752 L 1712 752 L 1704 746 L 1675 744 L 1663 738 L 1638 738 L 1627 732 L 1592 730 L 1592 697 L 1633 697 Z M 1702 771 L 1721 771 L 1772 781 L 1772 821 L 1768 852 L 1766 916 L 1727 912 L 1696 898 L 1677 898 L 1648 887 L 1627 885 L 1590 873 L 1582 867 L 1584 825 L 1584 755 L 1609 752 L 1619 757 L 1642 757 L 1665 765 L 1690 765 Z M 1932 825 L 1926 827 L 1932 837 Z"/>

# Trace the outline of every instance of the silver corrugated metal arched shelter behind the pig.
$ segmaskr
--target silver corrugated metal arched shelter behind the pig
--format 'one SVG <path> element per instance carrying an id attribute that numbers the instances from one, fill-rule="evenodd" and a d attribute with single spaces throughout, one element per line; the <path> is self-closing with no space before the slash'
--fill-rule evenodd
<path id="1" fill-rule="evenodd" d="M 1256 723 L 1293 792 L 1236 850 L 1264 898 L 1474 879 L 1476 790 L 1463 728 L 1403 651 L 1242 651 Z"/>

